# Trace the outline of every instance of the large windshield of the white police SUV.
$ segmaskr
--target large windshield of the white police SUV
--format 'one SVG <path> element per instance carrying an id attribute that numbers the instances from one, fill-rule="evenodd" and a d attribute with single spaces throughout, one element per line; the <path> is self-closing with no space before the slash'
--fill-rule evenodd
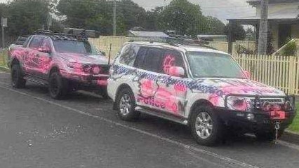
<path id="1" fill-rule="evenodd" d="M 246 78 L 230 55 L 214 52 L 187 52 L 194 78 Z"/>

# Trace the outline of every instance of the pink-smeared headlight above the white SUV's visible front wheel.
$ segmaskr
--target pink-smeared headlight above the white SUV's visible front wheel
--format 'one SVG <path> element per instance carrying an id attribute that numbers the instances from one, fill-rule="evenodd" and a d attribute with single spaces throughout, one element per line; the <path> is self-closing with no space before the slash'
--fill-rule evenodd
<path id="1" fill-rule="evenodd" d="M 227 97 L 227 108 L 235 111 L 247 111 L 250 101 L 246 97 L 230 96 Z"/>

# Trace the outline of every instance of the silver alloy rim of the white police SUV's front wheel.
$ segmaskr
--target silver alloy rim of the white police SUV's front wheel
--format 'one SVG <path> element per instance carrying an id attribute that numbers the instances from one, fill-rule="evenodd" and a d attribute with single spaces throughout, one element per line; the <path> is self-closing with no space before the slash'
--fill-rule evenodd
<path id="1" fill-rule="evenodd" d="M 201 112 L 197 115 L 197 119 L 195 121 L 195 129 L 197 135 L 201 139 L 208 139 L 213 132 L 213 120 L 209 113 Z"/>

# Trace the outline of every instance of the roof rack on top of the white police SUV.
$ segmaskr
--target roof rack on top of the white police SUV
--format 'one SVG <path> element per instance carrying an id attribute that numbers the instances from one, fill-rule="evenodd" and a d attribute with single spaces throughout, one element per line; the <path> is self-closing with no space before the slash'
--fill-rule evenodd
<path id="1" fill-rule="evenodd" d="M 132 39 L 129 42 L 135 42 L 135 41 L 149 41 L 150 43 L 168 43 L 169 45 L 173 45 L 173 46 L 192 45 L 192 46 L 199 46 L 199 47 L 210 48 L 213 50 L 218 50 L 216 48 L 208 46 L 208 41 L 199 41 L 197 39 L 192 39 L 192 38 L 178 38 L 178 37 L 152 38 L 152 39 L 145 38 L 140 40 Z"/>

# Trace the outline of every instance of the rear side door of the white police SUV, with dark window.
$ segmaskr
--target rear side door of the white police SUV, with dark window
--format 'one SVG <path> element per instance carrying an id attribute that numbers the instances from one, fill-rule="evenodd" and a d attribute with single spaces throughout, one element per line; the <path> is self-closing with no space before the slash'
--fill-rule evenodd
<path id="1" fill-rule="evenodd" d="M 138 88 L 136 104 L 151 109 L 166 111 L 164 99 L 156 99 L 158 94 L 168 94 L 161 86 L 162 48 L 140 47 L 134 66 L 138 69 L 134 81 Z M 169 94 L 168 94 L 169 95 Z M 158 97 L 159 98 L 159 97 Z"/>

